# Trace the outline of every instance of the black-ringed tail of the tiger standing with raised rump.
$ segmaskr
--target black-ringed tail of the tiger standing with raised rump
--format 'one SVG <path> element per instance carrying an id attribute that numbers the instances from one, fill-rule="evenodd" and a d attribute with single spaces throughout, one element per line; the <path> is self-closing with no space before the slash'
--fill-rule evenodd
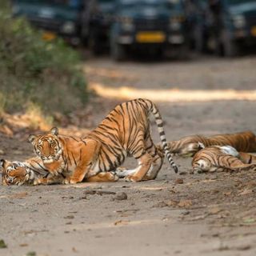
<path id="1" fill-rule="evenodd" d="M 145 100 L 144 100 L 145 101 Z M 153 102 L 150 102 L 150 100 L 146 100 L 147 105 L 149 106 L 150 112 L 152 114 L 154 114 L 154 118 L 155 118 L 155 122 L 158 126 L 158 133 L 160 135 L 160 139 L 162 142 L 162 148 L 166 154 L 166 157 L 168 159 L 168 161 L 170 162 L 170 166 L 172 166 L 172 168 L 174 169 L 175 173 L 178 173 L 178 167 L 176 166 L 176 164 L 174 163 L 174 159 L 172 158 L 171 154 L 170 154 L 170 149 L 167 145 L 167 141 L 166 141 L 166 133 L 163 130 L 163 122 L 162 122 L 162 116 L 157 108 L 157 106 L 154 105 Z"/>

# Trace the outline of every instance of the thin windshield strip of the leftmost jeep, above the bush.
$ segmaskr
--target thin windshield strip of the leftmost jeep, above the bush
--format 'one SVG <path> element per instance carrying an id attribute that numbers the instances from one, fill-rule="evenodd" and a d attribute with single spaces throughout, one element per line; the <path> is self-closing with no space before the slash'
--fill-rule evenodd
<path id="1" fill-rule="evenodd" d="M 16 0 L 15 3 L 47 4 L 54 6 L 66 6 L 78 9 L 82 6 L 82 0 Z"/>

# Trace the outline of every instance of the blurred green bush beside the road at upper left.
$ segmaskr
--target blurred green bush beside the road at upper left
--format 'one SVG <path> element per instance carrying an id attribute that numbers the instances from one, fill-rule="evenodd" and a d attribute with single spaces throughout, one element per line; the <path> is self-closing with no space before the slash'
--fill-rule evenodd
<path id="1" fill-rule="evenodd" d="M 2 2 L 2 1 L 1 1 Z M 0 9 L 0 112 L 26 110 L 64 114 L 87 100 L 78 53 L 61 38 L 46 42 L 24 18 Z"/>

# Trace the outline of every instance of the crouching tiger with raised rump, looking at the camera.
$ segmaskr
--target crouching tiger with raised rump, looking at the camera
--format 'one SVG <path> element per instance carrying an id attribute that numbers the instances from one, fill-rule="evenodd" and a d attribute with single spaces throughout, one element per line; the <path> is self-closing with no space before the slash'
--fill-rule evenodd
<path id="1" fill-rule="evenodd" d="M 30 135 L 29 141 L 46 170 L 55 176 L 63 174 L 66 184 L 82 182 L 83 178 L 108 171 L 126 176 L 126 181 L 154 179 L 164 155 L 154 146 L 150 136 L 150 113 L 154 114 L 170 165 L 178 172 L 168 150 L 161 115 L 153 102 L 142 98 L 116 106 L 83 139 L 59 135 L 54 127 L 48 133 Z M 138 159 L 138 167 L 117 171 L 127 156 Z"/>

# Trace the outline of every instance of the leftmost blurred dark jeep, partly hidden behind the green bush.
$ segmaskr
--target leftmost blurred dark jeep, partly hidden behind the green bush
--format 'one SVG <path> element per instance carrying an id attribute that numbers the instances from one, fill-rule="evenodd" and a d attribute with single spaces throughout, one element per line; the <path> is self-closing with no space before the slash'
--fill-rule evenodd
<path id="1" fill-rule="evenodd" d="M 87 9 L 84 0 L 12 0 L 13 15 L 25 16 L 32 25 L 44 30 L 43 38 L 62 36 L 78 45 L 88 35 Z"/>

